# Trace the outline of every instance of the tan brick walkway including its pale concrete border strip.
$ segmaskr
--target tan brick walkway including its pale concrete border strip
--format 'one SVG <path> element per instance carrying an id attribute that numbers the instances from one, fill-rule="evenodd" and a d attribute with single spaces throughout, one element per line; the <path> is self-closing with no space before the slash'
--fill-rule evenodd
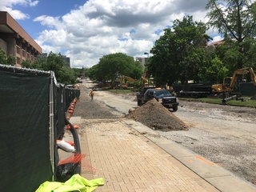
<path id="1" fill-rule="evenodd" d="M 140 122 L 74 117 L 81 127 L 82 177 L 104 178 L 95 191 L 256 191 L 205 158 Z"/>

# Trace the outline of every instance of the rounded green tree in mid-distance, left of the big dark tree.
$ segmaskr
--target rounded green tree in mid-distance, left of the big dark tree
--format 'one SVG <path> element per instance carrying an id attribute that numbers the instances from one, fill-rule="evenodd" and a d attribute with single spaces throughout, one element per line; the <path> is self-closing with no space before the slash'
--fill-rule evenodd
<path id="1" fill-rule="evenodd" d="M 121 75 L 130 76 L 134 67 L 133 57 L 122 53 L 107 54 L 98 62 L 96 76 L 114 82 Z"/>

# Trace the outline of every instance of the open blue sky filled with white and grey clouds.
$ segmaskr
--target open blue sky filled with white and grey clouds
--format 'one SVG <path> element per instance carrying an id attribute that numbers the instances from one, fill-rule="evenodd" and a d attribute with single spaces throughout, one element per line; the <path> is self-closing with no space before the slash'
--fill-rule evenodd
<path id="1" fill-rule="evenodd" d="M 146 57 L 175 19 L 207 22 L 208 0 L 0 0 L 31 38 L 70 57 L 71 67 L 90 67 L 106 54 Z M 209 30 L 218 41 L 221 37 Z"/>

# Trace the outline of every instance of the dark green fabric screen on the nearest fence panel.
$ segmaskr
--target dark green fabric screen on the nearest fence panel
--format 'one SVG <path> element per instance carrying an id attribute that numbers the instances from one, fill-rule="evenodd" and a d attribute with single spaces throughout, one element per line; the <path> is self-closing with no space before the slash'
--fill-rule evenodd
<path id="1" fill-rule="evenodd" d="M 50 181 L 50 74 L 0 68 L 0 191 Z"/>

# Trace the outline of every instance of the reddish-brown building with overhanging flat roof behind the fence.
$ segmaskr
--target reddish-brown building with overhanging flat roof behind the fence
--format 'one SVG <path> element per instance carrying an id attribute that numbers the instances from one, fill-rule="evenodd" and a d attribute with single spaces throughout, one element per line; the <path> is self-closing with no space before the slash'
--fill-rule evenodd
<path id="1" fill-rule="evenodd" d="M 0 48 L 6 55 L 14 55 L 16 66 L 29 59 L 34 62 L 42 48 L 18 25 L 6 11 L 0 11 Z"/>

